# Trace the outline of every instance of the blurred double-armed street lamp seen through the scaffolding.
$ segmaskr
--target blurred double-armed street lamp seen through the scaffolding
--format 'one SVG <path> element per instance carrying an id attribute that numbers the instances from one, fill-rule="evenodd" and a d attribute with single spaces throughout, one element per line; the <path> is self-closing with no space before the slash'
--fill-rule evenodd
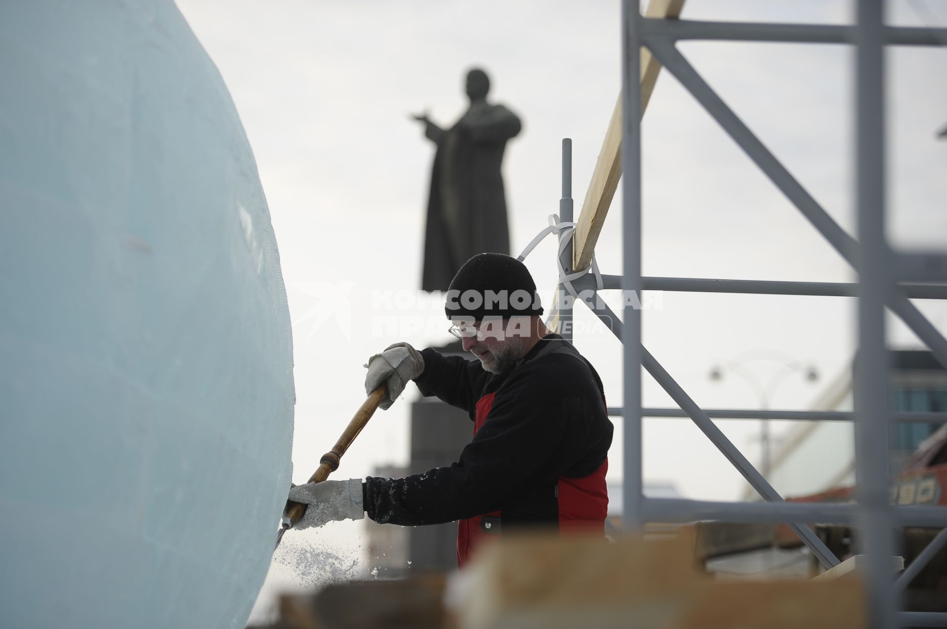
<path id="1" fill-rule="evenodd" d="M 768 379 L 761 379 L 754 371 L 746 368 L 747 364 L 761 360 L 776 362 L 781 368 Z M 727 360 L 713 365 L 710 368 L 708 376 L 712 381 L 720 382 L 727 373 L 742 377 L 743 380 L 750 385 L 750 388 L 752 388 L 759 397 L 759 408 L 762 411 L 770 410 L 770 400 L 773 399 L 773 395 L 776 393 L 778 387 L 785 382 L 789 376 L 802 374 L 806 382 L 816 382 L 819 379 L 819 372 L 813 364 L 802 363 L 798 360 L 784 357 L 778 352 L 764 350 L 753 352 L 739 359 Z M 772 453 L 770 452 L 770 423 L 768 419 L 760 420 L 759 443 L 762 449 L 759 473 L 765 478 L 769 476 L 773 466 L 771 459 Z"/>

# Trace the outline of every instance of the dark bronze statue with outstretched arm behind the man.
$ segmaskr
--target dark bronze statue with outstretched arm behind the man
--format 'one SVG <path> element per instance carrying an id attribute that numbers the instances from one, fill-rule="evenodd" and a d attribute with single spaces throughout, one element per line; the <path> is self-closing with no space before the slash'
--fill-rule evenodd
<path id="1" fill-rule="evenodd" d="M 476 253 L 509 254 L 507 201 L 500 166 L 507 140 L 520 119 L 487 102 L 490 79 L 480 69 L 467 74 L 471 106 L 443 130 L 427 114 L 414 115 L 438 145 L 431 172 L 424 237 L 423 290 L 447 290 L 456 271 Z"/>

